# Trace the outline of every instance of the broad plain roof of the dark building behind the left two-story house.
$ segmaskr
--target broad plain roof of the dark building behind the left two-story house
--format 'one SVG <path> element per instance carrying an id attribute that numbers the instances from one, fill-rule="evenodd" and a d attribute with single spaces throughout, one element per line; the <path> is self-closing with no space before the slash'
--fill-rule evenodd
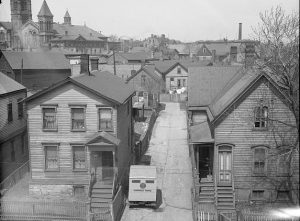
<path id="1" fill-rule="evenodd" d="M 69 60 L 63 53 L 3 51 L 12 69 L 70 69 Z"/>

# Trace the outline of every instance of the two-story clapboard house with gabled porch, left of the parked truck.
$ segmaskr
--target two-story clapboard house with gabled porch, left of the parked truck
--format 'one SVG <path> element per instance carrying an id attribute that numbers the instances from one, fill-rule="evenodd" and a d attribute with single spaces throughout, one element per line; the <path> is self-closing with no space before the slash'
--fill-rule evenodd
<path id="1" fill-rule="evenodd" d="M 30 193 L 91 193 L 92 209 L 107 206 L 127 183 L 133 93 L 119 77 L 94 71 L 29 97 Z"/>

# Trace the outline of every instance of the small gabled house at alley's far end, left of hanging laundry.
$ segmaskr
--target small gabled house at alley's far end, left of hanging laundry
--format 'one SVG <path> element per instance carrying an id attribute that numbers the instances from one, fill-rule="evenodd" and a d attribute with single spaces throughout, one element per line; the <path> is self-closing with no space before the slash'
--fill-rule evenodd
<path id="1" fill-rule="evenodd" d="M 141 102 L 145 107 L 157 107 L 164 82 L 162 77 L 155 73 L 153 64 L 143 66 L 131 75 L 127 82 L 136 91 L 136 96 L 133 97 L 134 103 Z"/>

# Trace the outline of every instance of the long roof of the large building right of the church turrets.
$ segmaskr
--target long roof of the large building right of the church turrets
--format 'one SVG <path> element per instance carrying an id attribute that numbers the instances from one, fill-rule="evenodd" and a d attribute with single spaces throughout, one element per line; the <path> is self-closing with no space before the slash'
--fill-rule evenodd
<path id="1" fill-rule="evenodd" d="M 69 24 L 58 24 L 53 23 L 53 29 L 56 31 L 56 34 L 60 37 L 62 36 L 79 36 L 81 35 L 85 39 L 89 40 L 95 38 L 106 38 L 101 33 L 89 28 L 86 25 L 69 25 Z M 66 35 L 67 32 L 67 35 Z M 55 38 L 57 39 L 57 38 Z"/>

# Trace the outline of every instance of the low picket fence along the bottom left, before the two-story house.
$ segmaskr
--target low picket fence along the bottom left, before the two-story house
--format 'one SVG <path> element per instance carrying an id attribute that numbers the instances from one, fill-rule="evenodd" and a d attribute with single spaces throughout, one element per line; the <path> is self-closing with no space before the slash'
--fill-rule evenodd
<path id="1" fill-rule="evenodd" d="M 1 220 L 87 220 L 88 204 L 62 201 L 11 201 L 1 200 Z"/>

